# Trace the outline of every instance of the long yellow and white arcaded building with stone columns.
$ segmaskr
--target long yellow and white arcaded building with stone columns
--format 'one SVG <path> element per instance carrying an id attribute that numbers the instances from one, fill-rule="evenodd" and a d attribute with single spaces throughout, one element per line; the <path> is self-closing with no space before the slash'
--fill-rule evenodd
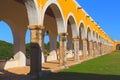
<path id="1" fill-rule="evenodd" d="M 114 41 L 75 0 L 0 0 L 0 11 L 0 20 L 10 25 L 14 37 L 14 60 L 7 61 L 4 69 L 26 66 L 27 29 L 31 31 L 30 73 L 33 76 L 40 74 L 39 68 L 44 62 L 46 32 L 50 38 L 48 60 L 57 60 L 58 56 L 61 66 L 66 65 L 69 57 L 79 61 L 113 51 Z M 66 52 L 69 52 L 67 56 Z"/>

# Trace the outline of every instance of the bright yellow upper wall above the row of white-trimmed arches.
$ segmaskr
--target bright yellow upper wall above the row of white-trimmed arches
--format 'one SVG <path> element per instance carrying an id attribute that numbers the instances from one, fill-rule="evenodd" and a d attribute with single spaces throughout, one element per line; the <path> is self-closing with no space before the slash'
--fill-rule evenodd
<path id="1" fill-rule="evenodd" d="M 44 8 L 44 5 L 46 4 L 48 0 L 37 0 L 38 7 L 40 6 Z M 101 30 L 100 27 L 96 24 L 95 21 L 91 17 L 86 17 L 88 14 L 83 9 L 77 9 L 78 5 L 75 3 L 74 0 L 57 0 L 64 16 L 64 19 L 66 21 L 68 14 L 72 13 L 76 19 L 76 24 L 79 25 L 80 21 L 82 20 L 85 25 L 85 29 L 87 29 L 87 26 L 90 26 L 90 29 L 98 33 L 98 35 L 105 40 L 114 43 L 114 41 L 104 33 L 104 31 Z"/>

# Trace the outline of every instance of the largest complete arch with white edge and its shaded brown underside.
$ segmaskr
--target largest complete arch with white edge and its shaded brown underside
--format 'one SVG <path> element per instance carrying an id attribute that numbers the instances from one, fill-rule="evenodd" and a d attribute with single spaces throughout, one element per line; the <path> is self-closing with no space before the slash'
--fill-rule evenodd
<path id="1" fill-rule="evenodd" d="M 56 20 L 56 25 L 57 25 L 57 30 L 58 30 L 58 34 L 60 33 L 64 33 L 65 32 L 65 19 L 62 13 L 62 9 L 60 8 L 60 5 L 57 3 L 57 1 L 52 1 L 49 0 L 44 8 L 43 8 L 43 13 L 42 13 L 42 24 L 44 25 L 44 19 L 45 19 L 45 13 L 48 9 L 51 9 L 52 11 L 52 15 L 54 14 L 54 18 Z M 49 15 L 51 15 L 51 13 L 49 12 Z"/>

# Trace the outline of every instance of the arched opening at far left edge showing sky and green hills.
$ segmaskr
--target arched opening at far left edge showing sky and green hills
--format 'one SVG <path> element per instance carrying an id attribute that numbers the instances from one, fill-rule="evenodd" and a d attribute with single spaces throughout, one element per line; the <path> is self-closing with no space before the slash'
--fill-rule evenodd
<path id="1" fill-rule="evenodd" d="M 0 60 L 9 60 L 14 56 L 14 41 L 11 27 L 0 21 Z"/>

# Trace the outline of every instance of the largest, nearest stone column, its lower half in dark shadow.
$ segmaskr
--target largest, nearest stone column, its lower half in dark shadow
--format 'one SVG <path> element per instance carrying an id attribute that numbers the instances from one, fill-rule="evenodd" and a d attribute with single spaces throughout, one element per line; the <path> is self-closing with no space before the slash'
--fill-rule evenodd
<path id="1" fill-rule="evenodd" d="M 41 44 L 42 44 L 42 28 L 40 25 L 30 25 L 31 44 L 30 44 L 30 75 L 34 80 L 41 76 Z"/>

